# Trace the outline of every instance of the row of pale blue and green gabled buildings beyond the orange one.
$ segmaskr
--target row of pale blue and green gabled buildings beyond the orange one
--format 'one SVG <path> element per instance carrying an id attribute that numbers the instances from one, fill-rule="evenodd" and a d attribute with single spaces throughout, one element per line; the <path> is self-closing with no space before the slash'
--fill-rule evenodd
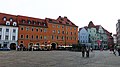
<path id="1" fill-rule="evenodd" d="M 93 49 L 107 49 L 114 44 L 112 33 L 101 25 L 94 25 L 92 21 L 88 26 L 79 29 L 78 36 L 80 44 L 85 44 Z"/>

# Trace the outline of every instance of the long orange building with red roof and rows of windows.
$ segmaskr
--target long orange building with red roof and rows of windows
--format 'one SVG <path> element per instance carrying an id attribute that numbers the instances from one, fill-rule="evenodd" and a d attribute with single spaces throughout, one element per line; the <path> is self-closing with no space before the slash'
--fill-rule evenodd
<path id="1" fill-rule="evenodd" d="M 56 49 L 60 46 L 71 46 L 78 43 L 78 26 L 67 17 L 57 19 L 33 18 L 16 15 L 18 22 L 18 46 L 50 46 Z"/>

